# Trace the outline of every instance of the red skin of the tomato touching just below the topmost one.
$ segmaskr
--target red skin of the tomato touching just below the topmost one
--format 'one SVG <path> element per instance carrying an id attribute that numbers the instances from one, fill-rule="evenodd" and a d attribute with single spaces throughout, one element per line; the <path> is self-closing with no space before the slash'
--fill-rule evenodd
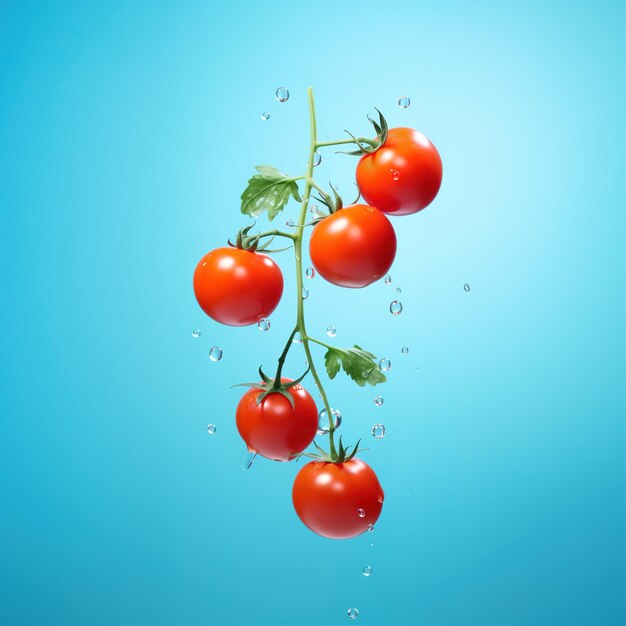
<path id="1" fill-rule="evenodd" d="M 378 209 L 354 204 L 316 224 L 309 254 L 315 269 L 328 282 L 340 287 L 366 287 L 391 267 L 396 233 Z"/>

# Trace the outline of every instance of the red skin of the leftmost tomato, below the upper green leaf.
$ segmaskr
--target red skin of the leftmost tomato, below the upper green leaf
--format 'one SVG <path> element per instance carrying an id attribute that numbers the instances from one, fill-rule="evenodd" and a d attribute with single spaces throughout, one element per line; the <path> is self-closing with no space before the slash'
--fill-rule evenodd
<path id="1" fill-rule="evenodd" d="M 266 254 L 217 248 L 200 259 L 193 290 L 202 310 L 216 322 L 248 326 L 278 306 L 283 275 Z"/>

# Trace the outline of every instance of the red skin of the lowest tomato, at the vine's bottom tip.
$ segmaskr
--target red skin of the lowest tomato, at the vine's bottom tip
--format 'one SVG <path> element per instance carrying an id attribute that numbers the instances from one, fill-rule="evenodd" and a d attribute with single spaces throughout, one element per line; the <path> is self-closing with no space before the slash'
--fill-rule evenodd
<path id="1" fill-rule="evenodd" d="M 376 523 L 385 493 L 374 470 L 355 457 L 345 463 L 307 463 L 296 476 L 292 498 L 307 528 L 329 539 L 349 539 Z"/>

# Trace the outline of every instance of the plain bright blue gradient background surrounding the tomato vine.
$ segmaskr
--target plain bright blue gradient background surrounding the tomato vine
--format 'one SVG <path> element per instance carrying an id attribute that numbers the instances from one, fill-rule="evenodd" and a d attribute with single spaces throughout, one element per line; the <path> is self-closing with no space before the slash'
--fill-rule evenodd
<path id="1" fill-rule="evenodd" d="M 622 2 L 0 2 L 0 623 L 623 625 L 625 26 Z M 308 285 L 312 332 L 392 360 L 383 407 L 329 385 L 387 496 L 346 542 L 296 518 L 298 465 L 239 466 L 230 385 L 271 369 L 293 288 L 267 333 L 191 290 L 253 166 L 303 171 L 308 85 L 321 138 L 378 107 L 445 171 L 393 221 L 392 285 Z M 354 165 L 316 175 L 349 198 Z"/>

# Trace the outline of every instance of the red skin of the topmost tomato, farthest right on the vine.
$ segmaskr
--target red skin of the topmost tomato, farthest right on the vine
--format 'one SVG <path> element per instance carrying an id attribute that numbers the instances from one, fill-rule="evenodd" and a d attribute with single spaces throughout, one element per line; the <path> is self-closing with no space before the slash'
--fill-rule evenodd
<path id="1" fill-rule="evenodd" d="M 363 198 L 389 215 L 427 207 L 441 187 L 437 148 L 417 130 L 392 128 L 381 148 L 361 157 L 356 181 Z"/>

